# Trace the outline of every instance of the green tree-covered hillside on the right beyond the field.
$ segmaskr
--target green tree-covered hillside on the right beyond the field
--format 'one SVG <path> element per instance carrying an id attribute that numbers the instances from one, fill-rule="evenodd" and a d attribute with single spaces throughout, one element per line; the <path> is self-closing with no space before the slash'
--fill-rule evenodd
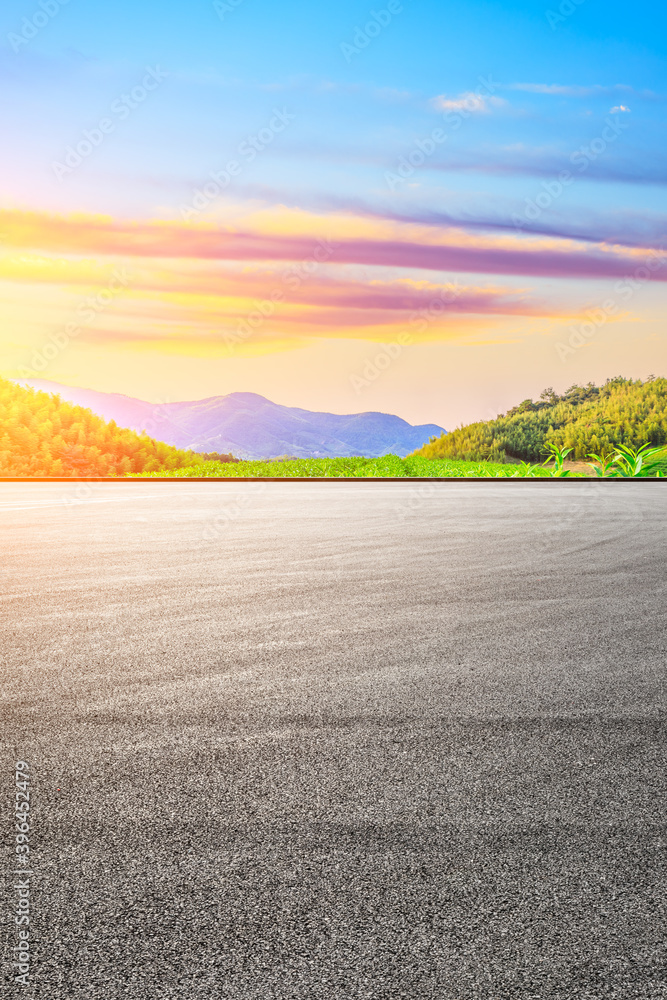
<path id="1" fill-rule="evenodd" d="M 545 389 L 537 402 L 525 399 L 495 420 L 468 424 L 431 438 L 415 455 L 425 458 L 536 462 L 547 443 L 572 448 L 570 458 L 606 455 L 616 445 L 631 448 L 667 442 L 667 379 L 646 382 L 607 379 L 604 385 L 573 385 L 559 396 Z"/>

